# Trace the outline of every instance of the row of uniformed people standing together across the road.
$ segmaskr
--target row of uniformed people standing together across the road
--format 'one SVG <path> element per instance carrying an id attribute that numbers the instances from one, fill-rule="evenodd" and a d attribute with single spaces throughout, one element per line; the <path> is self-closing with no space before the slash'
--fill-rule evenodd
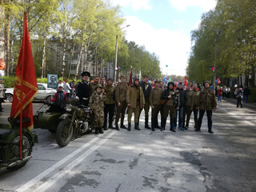
<path id="1" fill-rule="evenodd" d="M 78 84 L 77 96 L 84 106 L 89 106 L 93 114 L 95 134 L 103 134 L 103 130 L 109 128 L 120 130 L 118 126 L 121 118 L 120 128 L 131 130 L 131 118 L 134 114 L 134 130 L 139 128 L 139 120 L 142 119 L 141 112 L 145 111 L 145 128 L 154 131 L 156 128 L 166 130 L 166 120 L 170 116 L 170 130 L 176 132 L 189 128 L 190 115 L 194 112 L 194 128 L 201 130 L 203 115 L 207 114 L 208 132 L 212 131 L 212 111 L 216 110 L 214 91 L 210 89 L 210 82 L 205 82 L 205 89 L 198 90 L 197 84 L 190 84 L 183 89 L 182 82 L 174 89 L 174 82 L 169 82 L 167 87 L 163 86 L 161 80 L 154 81 L 154 88 L 149 83 L 149 77 L 144 75 L 143 81 L 134 78 L 133 84 L 126 84 L 126 77 L 121 76 L 117 86 L 113 85 L 112 78 L 107 81 L 94 77 L 94 82 L 89 83 L 89 72 L 82 73 L 82 82 Z M 106 84 L 105 84 L 106 81 Z M 149 123 L 149 111 L 151 106 L 151 126 Z M 124 125 L 126 109 L 128 108 L 128 127 Z M 116 118 L 114 121 L 114 110 Z M 198 118 L 199 110 L 199 118 Z M 158 124 L 158 114 L 161 114 L 161 124 Z M 177 121 L 178 118 L 178 121 Z"/>

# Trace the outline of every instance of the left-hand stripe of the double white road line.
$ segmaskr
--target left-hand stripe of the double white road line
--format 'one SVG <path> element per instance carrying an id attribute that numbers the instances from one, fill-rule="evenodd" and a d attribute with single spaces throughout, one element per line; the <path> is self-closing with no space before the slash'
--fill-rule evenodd
<path id="1" fill-rule="evenodd" d="M 114 134 L 116 133 L 116 131 L 111 132 L 110 134 L 108 134 L 106 136 L 106 138 L 111 138 Z M 75 150 L 72 154 L 69 154 L 68 156 L 66 156 L 66 158 L 63 158 L 61 161 L 57 162 L 56 164 L 54 164 L 54 166 L 51 166 L 49 169 L 45 170 L 42 172 L 42 174 L 39 174 L 37 177 L 33 178 L 32 180 L 30 180 L 30 182 L 27 182 L 26 184 L 24 184 L 23 186 L 19 187 L 17 190 L 17 192 L 22 192 L 25 191 L 27 189 L 29 189 L 31 186 L 34 186 L 35 184 L 37 184 L 42 178 L 46 177 L 47 174 L 50 174 L 50 172 L 56 170 L 59 166 L 62 166 L 62 164 L 64 164 L 65 162 L 69 161 L 70 158 L 73 158 L 76 154 L 80 153 L 82 150 L 84 150 L 87 146 L 90 146 L 92 143 L 101 140 L 102 138 L 94 138 L 92 139 L 90 142 L 87 142 L 85 145 L 81 146 L 80 148 L 78 148 L 78 150 Z M 102 139 L 101 142 L 106 142 L 107 139 Z M 98 145 L 97 145 L 98 146 Z M 90 151 L 90 150 L 88 150 Z M 80 156 L 81 157 L 81 156 Z M 79 159 L 80 159 L 79 157 Z M 75 160 L 77 161 L 77 160 Z M 71 163 L 73 164 L 73 162 Z M 69 165 L 70 166 L 70 165 Z M 65 170 L 65 169 L 64 169 Z M 38 191 L 38 190 L 37 190 Z"/>

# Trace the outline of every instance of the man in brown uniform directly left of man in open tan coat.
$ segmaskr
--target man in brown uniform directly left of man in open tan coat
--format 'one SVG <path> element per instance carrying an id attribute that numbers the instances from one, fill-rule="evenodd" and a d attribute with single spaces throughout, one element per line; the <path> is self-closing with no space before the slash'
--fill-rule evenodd
<path id="1" fill-rule="evenodd" d="M 123 124 L 125 114 L 126 114 L 126 90 L 128 89 L 128 86 L 126 85 L 126 77 L 122 76 L 120 77 L 121 82 L 118 84 L 118 86 L 115 87 L 115 102 L 117 105 L 117 116 L 115 118 L 115 128 L 118 130 L 118 121 L 121 114 L 121 128 L 126 129 L 126 126 Z"/>

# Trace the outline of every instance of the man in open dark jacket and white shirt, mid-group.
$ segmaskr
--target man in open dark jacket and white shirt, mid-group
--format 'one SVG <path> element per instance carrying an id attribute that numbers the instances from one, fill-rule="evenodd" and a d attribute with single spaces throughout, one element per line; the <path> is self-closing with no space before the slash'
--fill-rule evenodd
<path id="1" fill-rule="evenodd" d="M 149 77 L 146 74 L 143 77 L 143 81 L 140 82 L 140 86 L 142 87 L 143 94 L 145 97 L 145 106 L 144 106 L 145 128 L 151 129 L 151 127 L 149 126 L 149 110 L 150 110 L 150 91 L 151 91 L 152 87 L 149 83 Z"/>

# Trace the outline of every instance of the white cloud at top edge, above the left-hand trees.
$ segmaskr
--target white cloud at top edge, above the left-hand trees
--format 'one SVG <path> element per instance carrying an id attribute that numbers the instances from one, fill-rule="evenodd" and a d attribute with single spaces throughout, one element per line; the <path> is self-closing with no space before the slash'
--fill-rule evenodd
<path id="1" fill-rule="evenodd" d="M 134 10 L 151 10 L 150 0 L 112 0 L 113 5 L 131 6 Z"/>

